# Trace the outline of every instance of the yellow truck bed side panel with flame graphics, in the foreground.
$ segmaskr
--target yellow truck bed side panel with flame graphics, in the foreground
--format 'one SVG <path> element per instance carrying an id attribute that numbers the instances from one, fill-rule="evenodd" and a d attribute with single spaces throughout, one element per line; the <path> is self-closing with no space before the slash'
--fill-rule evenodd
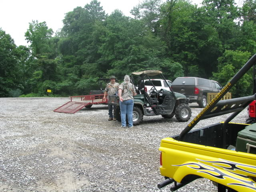
<path id="1" fill-rule="evenodd" d="M 256 154 L 164 138 L 160 173 L 178 183 L 208 178 L 241 192 L 256 191 Z"/>

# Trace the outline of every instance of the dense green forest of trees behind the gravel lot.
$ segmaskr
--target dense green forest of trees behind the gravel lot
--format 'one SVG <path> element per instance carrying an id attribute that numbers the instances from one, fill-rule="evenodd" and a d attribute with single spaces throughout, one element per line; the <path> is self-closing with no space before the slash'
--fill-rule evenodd
<path id="1" fill-rule="evenodd" d="M 144 0 L 131 10 L 105 14 L 92 0 L 65 14 L 53 32 L 32 20 L 16 46 L 0 28 L 0 97 L 75 96 L 98 88 L 99 78 L 161 70 L 166 79 L 197 76 L 224 86 L 256 53 L 256 0 Z M 252 70 L 231 90 L 252 94 Z"/>

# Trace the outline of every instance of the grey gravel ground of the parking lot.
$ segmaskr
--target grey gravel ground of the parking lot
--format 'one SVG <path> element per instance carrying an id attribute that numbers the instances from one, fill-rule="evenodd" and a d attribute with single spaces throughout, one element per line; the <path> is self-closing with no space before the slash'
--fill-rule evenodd
<path id="1" fill-rule="evenodd" d="M 75 114 L 53 112 L 68 98 L 0 98 L 0 192 L 169 192 L 157 188 L 162 138 L 190 122 L 144 117 L 121 128 L 108 121 L 106 105 Z M 190 104 L 192 120 L 202 108 Z M 214 124 L 228 115 L 200 121 Z M 245 122 L 246 109 L 232 122 Z M 216 192 L 198 179 L 178 192 Z"/>

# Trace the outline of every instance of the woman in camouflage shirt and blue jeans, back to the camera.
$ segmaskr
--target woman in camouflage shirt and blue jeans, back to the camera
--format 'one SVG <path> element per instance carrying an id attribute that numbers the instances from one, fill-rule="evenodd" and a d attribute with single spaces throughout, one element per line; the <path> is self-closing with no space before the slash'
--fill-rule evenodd
<path id="1" fill-rule="evenodd" d="M 134 85 L 130 82 L 128 75 L 124 76 L 124 82 L 122 82 L 118 88 L 118 95 L 120 98 L 119 105 L 121 110 L 121 122 L 122 127 L 126 127 L 126 114 L 128 119 L 128 128 L 133 127 L 132 110 L 133 110 L 133 96 L 136 95 Z"/>

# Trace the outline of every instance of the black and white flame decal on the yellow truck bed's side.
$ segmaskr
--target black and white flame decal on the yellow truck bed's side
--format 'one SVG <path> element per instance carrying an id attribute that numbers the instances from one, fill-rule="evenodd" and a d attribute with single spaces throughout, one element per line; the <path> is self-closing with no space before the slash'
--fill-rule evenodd
<path id="1" fill-rule="evenodd" d="M 236 163 L 224 159 L 220 159 L 219 161 L 206 161 L 196 159 L 198 162 L 186 163 L 181 165 L 172 165 L 172 166 L 187 166 L 197 172 L 208 174 L 217 179 L 224 180 L 226 178 L 230 178 L 235 180 L 236 182 L 227 183 L 232 186 L 242 186 L 245 188 L 250 188 L 252 190 L 256 190 L 256 183 L 252 180 L 249 180 L 247 174 L 253 174 L 256 176 L 256 166 L 250 166 L 246 164 Z M 205 163 L 210 163 L 211 165 L 207 165 Z M 218 168 L 219 167 L 219 168 Z M 254 172 L 247 170 L 248 168 L 255 169 Z M 226 172 L 223 172 L 225 170 Z M 238 173 L 238 171 L 240 173 Z M 244 174 L 242 174 L 244 173 Z M 239 178 L 241 177 L 241 178 Z"/>

